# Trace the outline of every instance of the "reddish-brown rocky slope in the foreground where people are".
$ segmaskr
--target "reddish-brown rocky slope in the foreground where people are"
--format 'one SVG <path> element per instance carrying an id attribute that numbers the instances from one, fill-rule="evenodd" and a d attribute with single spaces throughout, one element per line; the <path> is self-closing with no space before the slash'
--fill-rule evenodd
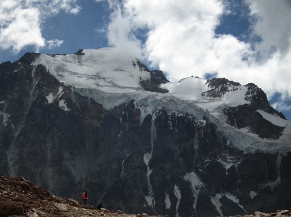
<path id="1" fill-rule="evenodd" d="M 94 206 L 81 205 L 69 198 L 52 195 L 23 177 L 0 175 L 0 217 L 149 217 L 147 214 L 124 214 L 122 211 L 98 210 Z M 255 212 L 235 217 L 287 217 L 291 209 L 276 213 Z M 162 217 L 162 216 L 158 216 Z"/>

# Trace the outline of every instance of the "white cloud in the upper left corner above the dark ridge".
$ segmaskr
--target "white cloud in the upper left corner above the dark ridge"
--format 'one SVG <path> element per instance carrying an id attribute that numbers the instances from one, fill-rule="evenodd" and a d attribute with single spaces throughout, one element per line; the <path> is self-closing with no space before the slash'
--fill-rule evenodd
<path id="1" fill-rule="evenodd" d="M 46 17 L 60 11 L 77 14 L 81 7 L 76 0 L 0 0 L 0 49 L 13 49 L 18 53 L 27 46 L 38 51 L 46 44 L 41 23 Z"/>

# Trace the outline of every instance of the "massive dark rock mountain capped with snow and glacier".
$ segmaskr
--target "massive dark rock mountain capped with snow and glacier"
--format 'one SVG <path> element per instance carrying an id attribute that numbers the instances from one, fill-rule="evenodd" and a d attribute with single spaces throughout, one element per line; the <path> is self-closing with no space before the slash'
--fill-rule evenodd
<path id="1" fill-rule="evenodd" d="M 162 71 L 113 48 L 0 64 L 0 174 L 149 215 L 291 207 L 291 122 L 255 84 Z"/>

